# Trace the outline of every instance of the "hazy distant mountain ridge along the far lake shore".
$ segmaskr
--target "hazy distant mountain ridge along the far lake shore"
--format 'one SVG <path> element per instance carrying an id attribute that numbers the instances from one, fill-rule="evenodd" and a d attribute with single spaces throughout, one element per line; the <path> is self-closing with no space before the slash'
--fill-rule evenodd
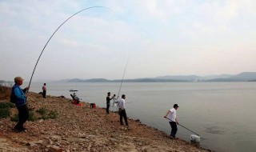
<path id="1" fill-rule="evenodd" d="M 122 82 L 120 79 L 108 80 L 106 78 L 79 79 L 73 78 L 66 82 Z M 240 74 L 220 75 L 166 75 L 156 78 L 124 79 L 123 82 L 256 82 L 256 72 L 242 72 Z"/>

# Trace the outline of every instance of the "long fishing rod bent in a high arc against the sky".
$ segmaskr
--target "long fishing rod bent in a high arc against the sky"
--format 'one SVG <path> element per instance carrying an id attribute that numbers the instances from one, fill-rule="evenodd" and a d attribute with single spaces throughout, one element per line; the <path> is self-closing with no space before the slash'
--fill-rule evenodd
<path id="1" fill-rule="evenodd" d="M 76 15 L 76 14 L 78 14 L 78 13 L 84 11 L 84 10 L 89 10 L 89 9 L 97 8 L 97 7 L 109 9 L 109 8 L 107 8 L 107 7 L 104 7 L 104 6 L 91 6 L 91 7 L 88 7 L 88 8 L 85 8 L 85 9 L 83 9 L 83 10 L 78 11 L 77 13 L 73 14 L 72 16 L 70 16 L 70 18 L 74 17 L 74 15 Z M 61 24 L 60 26 L 58 26 L 58 28 L 54 31 L 54 34 L 55 34 L 55 33 L 58 31 L 58 29 L 59 29 L 63 24 L 65 24 L 65 22 L 67 22 L 70 18 L 67 18 L 66 21 L 62 22 L 62 24 Z M 46 45 L 43 47 L 42 52 L 46 49 L 46 46 L 47 46 L 48 42 L 50 42 L 50 39 L 54 36 L 54 34 L 52 34 L 52 35 L 50 36 L 49 40 L 46 42 Z M 39 55 L 38 61 L 39 61 L 39 59 L 41 58 L 42 52 L 41 52 L 41 54 Z M 38 66 L 38 61 L 37 61 L 37 63 L 36 63 L 35 66 L 34 66 L 34 70 L 35 70 L 35 68 Z M 34 75 L 34 70 L 33 70 L 33 73 L 32 73 L 32 75 L 31 75 L 31 78 L 30 78 L 30 83 L 31 83 L 32 78 L 33 78 L 33 75 Z M 27 92 L 29 91 L 29 89 L 30 89 L 30 84 L 29 84 L 29 88 L 28 88 Z"/>

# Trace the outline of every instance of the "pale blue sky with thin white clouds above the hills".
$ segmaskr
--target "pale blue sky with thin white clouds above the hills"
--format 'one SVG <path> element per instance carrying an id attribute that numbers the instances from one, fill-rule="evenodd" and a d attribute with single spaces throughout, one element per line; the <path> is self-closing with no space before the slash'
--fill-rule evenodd
<path id="1" fill-rule="evenodd" d="M 102 7 L 83 10 L 93 6 Z M 29 81 L 37 61 L 32 81 L 256 72 L 255 8 L 254 0 L 0 0 L 0 80 Z"/>

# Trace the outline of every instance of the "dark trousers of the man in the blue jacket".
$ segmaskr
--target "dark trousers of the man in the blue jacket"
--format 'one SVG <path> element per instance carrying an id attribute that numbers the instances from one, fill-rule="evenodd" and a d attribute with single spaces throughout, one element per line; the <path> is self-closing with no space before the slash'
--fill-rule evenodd
<path id="1" fill-rule="evenodd" d="M 16 129 L 22 129 L 23 124 L 26 122 L 26 120 L 29 118 L 29 109 L 26 105 L 18 106 L 18 123 L 15 126 Z"/>

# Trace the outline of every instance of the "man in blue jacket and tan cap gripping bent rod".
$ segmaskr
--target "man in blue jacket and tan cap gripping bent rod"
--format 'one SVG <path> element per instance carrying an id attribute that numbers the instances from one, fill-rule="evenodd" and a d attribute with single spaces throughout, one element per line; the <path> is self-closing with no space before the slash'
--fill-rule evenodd
<path id="1" fill-rule="evenodd" d="M 18 123 L 14 126 L 14 129 L 24 131 L 26 128 L 24 128 L 23 124 L 29 118 L 29 110 L 26 106 L 26 90 L 28 90 L 29 87 L 26 87 L 24 90 L 21 89 L 20 86 L 22 86 L 23 83 L 23 78 L 21 77 L 15 77 L 14 82 L 15 84 L 10 94 L 10 102 L 14 102 L 18 109 Z"/>

